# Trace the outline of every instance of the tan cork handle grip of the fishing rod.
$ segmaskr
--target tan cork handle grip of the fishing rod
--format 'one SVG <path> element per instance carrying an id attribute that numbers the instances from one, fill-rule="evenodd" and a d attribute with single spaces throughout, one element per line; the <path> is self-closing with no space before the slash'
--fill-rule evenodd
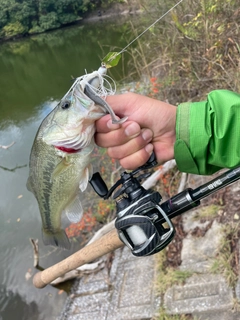
<path id="1" fill-rule="evenodd" d="M 90 263 L 122 246 L 123 243 L 119 239 L 116 229 L 113 229 L 100 239 L 73 253 L 68 258 L 36 273 L 33 277 L 33 284 L 36 288 L 44 288 L 47 284 L 50 284 L 53 280 L 63 276 L 65 273 L 86 263 Z"/>

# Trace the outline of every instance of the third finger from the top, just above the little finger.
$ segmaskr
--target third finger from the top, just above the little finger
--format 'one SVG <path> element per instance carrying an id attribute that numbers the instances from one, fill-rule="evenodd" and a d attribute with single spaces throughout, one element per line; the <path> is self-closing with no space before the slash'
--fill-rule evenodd
<path id="1" fill-rule="evenodd" d="M 144 148 L 151 140 L 152 140 L 152 131 L 149 129 L 143 129 L 141 134 L 137 137 L 134 137 L 127 141 L 122 145 L 116 146 L 114 144 L 113 147 L 108 149 L 108 154 L 111 158 L 122 159 L 125 158 L 132 153 L 136 153 L 137 151 Z"/>

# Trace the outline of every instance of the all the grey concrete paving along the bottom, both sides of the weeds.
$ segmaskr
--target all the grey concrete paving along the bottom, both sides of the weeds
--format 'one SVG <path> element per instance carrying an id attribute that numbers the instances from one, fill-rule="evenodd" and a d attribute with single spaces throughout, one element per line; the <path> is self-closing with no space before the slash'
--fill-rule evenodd
<path id="1" fill-rule="evenodd" d="M 238 188 L 240 194 L 240 183 Z M 233 290 L 222 275 L 209 272 L 223 236 L 221 225 L 214 221 L 204 236 L 196 237 L 191 231 L 207 225 L 196 214 L 183 215 L 187 236 L 179 268 L 193 272 L 184 285 L 169 288 L 161 300 L 154 289 L 154 256 L 136 258 L 125 247 L 115 252 L 109 271 L 104 268 L 76 281 L 59 320 L 150 320 L 157 319 L 160 306 L 169 315 L 192 314 L 197 320 L 239 320 L 234 301 L 240 300 L 240 280 Z"/>

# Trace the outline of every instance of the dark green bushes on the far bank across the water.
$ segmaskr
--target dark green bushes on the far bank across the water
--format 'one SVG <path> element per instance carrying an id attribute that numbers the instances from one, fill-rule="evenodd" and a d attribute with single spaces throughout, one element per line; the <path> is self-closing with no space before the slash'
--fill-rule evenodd
<path id="1" fill-rule="evenodd" d="M 16 35 L 41 33 L 74 23 L 82 15 L 117 0 L 1 0 L 0 40 Z"/>

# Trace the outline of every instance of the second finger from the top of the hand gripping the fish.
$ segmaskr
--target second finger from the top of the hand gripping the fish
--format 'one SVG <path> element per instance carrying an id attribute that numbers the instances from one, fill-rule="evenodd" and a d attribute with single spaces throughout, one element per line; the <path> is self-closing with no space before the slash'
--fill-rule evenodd
<path id="1" fill-rule="evenodd" d="M 127 141 L 133 139 L 134 137 L 139 136 L 141 132 L 142 131 L 138 123 L 133 121 L 126 121 L 119 127 L 119 129 L 107 133 L 95 134 L 95 142 L 97 145 L 103 148 L 119 146 L 125 144 Z"/>

